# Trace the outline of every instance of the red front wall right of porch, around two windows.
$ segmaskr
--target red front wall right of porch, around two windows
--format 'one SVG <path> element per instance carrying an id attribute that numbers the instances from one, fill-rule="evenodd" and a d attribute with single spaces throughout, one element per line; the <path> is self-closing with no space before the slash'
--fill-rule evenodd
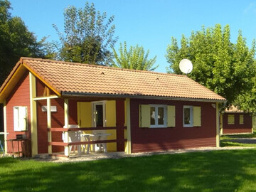
<path id="1" fill-rule="evenodd" d="M 139 105 L 175 105 L 176 127 L 140 128 Z M 132 152 L 216 146 L 216 112 L 210 102 L 130 100 Z M 183 127 L 183 105 L 201 106 L 201 127 Z"/>

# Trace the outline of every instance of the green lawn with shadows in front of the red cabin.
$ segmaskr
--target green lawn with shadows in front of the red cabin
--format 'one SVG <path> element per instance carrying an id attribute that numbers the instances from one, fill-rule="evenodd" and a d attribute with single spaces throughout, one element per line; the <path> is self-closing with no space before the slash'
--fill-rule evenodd
<path id="1" fill-rule="evenodd" d="M 0 158 L 0 191 L 254 191 L 256 149 L 55 164 Z"/>

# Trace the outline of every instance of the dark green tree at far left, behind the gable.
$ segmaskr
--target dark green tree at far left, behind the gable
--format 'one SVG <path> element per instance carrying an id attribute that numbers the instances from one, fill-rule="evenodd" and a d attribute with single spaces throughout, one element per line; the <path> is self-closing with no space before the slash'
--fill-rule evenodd
<path id="1" fill-rule="evenodd" d="M 11 4 L 0 0 L 0 85 L 21 56 L 43 57 L 43 41 L 37 42 L 21 18 L 12 17 Z"/>

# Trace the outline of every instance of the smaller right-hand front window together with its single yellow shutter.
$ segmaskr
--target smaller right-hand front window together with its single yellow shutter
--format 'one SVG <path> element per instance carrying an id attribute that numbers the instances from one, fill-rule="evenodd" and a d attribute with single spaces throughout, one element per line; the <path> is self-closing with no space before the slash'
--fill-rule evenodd
<path id="1" fill-rule="evenodd" d="M 183 106 L 183 127 L 201 127 L 201 107 Z"/>

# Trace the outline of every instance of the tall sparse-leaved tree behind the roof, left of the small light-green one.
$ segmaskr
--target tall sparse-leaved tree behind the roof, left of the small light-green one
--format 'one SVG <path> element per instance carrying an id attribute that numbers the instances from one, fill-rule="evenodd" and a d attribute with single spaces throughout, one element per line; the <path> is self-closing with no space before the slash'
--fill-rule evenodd
<path id="1" fill-rule="evenodd" d="M 64 34 L 53 26 L 60 38 L 58 56 L 61 60 L 110 65 L 111 47 L 116 43 L 114 16 L 107 19 L 106 12 L 100 14 L 94 4 L 87 2 L 84 9 L 69 6 L 64 12 Z"/>

